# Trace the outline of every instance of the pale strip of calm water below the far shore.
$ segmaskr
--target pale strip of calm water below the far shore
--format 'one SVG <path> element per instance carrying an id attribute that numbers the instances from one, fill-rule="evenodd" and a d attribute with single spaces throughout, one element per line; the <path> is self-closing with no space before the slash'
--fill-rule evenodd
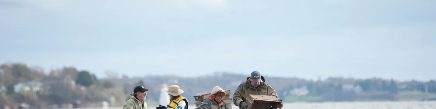
<path id="1" fill-rule="evenodd" d="M 148 106 L 155 109 L 157 106 Z M 189 106 L 195 109 L 195 106 Z M 121 109 L 121 108 L 109 108 Z M 232 109 L 238 109 L 232 106 Z M 283 109 L 436 109 L 436 101 L 285 103 Z"/>

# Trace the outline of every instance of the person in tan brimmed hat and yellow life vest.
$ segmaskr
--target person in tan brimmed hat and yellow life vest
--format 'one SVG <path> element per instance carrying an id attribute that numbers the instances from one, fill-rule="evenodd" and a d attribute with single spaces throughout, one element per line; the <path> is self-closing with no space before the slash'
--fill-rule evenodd
<path id="1" fill-rule="evenodd" d="M 156 109 L 188 109 L 188 99 L 182 96 L 184 91 L 178 85 L 168 86 L 166 92 L 170 95 L 170 103 L 167 107 L 159 105 Z"/>

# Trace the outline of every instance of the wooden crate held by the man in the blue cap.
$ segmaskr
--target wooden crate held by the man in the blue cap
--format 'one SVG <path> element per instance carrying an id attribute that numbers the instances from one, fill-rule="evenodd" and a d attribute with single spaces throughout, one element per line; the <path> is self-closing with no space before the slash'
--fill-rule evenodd
<path id="1" fill-rule="evenodd" d="M 247 109 L 277 109 L 281 102 L 278 97 L 270 95 L 250 95 L 246 99 Z"/>

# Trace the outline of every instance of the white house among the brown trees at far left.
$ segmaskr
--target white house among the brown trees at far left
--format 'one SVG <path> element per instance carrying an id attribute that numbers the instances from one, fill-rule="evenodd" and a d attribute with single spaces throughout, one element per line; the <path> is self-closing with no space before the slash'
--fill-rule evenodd
<path id="1" fill-rule="evenodd" d="M 40 91 L 42 89 L 42 86 L 43 86 L 43 84 L 41 82 L 36 82 L 36 81 L 21 82 L 21 83 L 18 83 L 14 86 L 14 91 L 15 92 L 20 92 L 20 91 L 37 92 L 37 91 Z"/>

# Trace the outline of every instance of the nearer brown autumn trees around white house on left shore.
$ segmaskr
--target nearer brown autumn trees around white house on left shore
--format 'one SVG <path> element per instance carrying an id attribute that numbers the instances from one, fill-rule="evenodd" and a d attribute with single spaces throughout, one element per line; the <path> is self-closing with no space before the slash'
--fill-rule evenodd
<path id="1" fill-rule="evenodd" d="M 99 81 L 88 71 L 74 67 L 53 70 L 46 75 L 24 64 L 0 66 L 0 106 L 16 107 L 21 103 L 31 108 L 71 108 L 108 101 L 115 88 L 111 81 Z"/>

